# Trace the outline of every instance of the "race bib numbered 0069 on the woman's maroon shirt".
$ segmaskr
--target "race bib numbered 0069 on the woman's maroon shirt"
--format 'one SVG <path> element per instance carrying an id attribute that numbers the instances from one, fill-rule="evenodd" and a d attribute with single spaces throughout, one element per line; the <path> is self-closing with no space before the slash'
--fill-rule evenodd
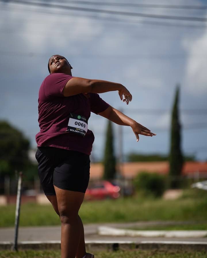
<path id="1" fill-rule="evenodd" d="M 71 114 L 66 132 L 72 132 L 81 136 L 85 136 L 88 131 L 88 120 L 85 116 Z"/>

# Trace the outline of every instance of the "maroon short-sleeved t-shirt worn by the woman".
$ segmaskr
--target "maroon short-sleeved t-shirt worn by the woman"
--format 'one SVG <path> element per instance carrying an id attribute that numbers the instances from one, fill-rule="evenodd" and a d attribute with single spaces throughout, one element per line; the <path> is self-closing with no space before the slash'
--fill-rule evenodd
<path id="1" fill-rule="evenodd" d="M 40 132 L 36 134 L 37 146 L 52 146 L 91 154 L 94 135 L 88 130 L 85 136 L 67 131 L 70 114 L 89 119 L 91 112 L 103 112 L 109 106 L 96 93 L 81 93 L 64 97 L 63 89 L 73 78 L 64 73 L 48 75 L 39 89 L 38 112 Z"/>

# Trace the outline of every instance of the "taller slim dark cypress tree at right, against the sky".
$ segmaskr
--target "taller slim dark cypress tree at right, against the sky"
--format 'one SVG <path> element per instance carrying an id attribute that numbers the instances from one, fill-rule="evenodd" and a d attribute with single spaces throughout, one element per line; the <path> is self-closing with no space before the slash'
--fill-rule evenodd
<path id="1" fill-rule="evenodd" d="M 183 155 L 181 151 L 181 124 L 179 121 L 179 85 L 176 87 L 175 100 L 172 110 L 171 131 L 170 131 L 170 154 L 169 154 L 169 175 L 170 187 L 180 186 L 179 176 L 182 173 Z"/>

